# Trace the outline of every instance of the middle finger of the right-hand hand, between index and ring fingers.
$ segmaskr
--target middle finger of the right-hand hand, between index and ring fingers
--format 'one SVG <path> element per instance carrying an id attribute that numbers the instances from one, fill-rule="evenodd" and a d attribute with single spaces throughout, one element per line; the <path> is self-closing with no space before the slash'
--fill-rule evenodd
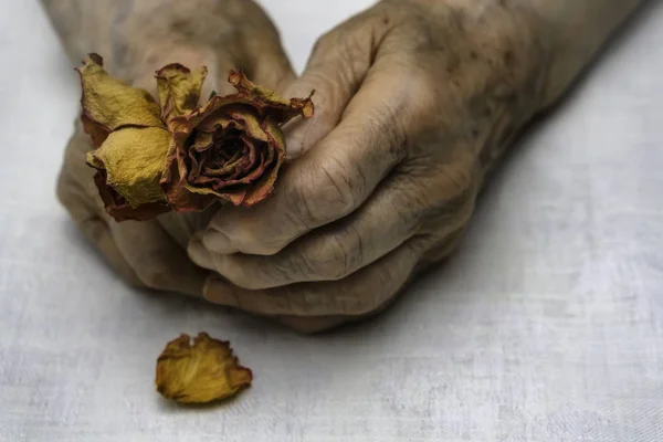
<path id="1" fill-rule="evenodd" d="M 427 194 L 434 194 L 435 200 Z M 408 173 L 394 173 L 355 213 L 304 235 L 275 255 L 212 253 L 203 238 L 189 244 L 189 256 L 244 288 L 340 280 L 417 234 L 429 218 L 442 225 L 435 232 L 442 238 L 465 225 L 474 209 L 473 194 L 472 187 L 453 181 L 412 180 Z"/>

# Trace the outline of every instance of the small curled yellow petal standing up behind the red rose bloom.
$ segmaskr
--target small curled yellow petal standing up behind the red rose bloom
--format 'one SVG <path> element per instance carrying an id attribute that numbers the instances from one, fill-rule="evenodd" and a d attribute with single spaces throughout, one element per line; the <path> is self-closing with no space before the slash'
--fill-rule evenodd
<path id="1" fill-rule="evenodd" d="M 193 110 L 200 99 L 207 67 L 191 72 L 179 63 L 169 64 L 157 71 L 157 87 L 164 119 Z"/>

